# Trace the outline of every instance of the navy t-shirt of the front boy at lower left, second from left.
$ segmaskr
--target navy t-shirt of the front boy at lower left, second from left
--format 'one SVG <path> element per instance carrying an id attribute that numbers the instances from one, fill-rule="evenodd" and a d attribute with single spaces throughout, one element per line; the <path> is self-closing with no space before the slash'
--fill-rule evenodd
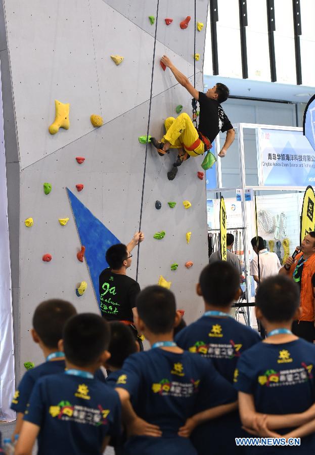
<path id="1" fill-rule="evenodd" d="M 24 420 L 40 427 L 38 455 L 99 455 L 121 433 L 120 400 L 97 379 L 51 375 L 36 382 Z"/>

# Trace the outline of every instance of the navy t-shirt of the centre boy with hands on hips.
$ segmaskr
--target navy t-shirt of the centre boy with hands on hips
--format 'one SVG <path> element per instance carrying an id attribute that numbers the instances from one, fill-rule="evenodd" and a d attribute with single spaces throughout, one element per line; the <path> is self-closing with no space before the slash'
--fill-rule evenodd
<path id="1" fill-rule="evenodd" d="M 190 440 L 177 436 L 178 429 L 194 414 L 236 398 L 211 362 L 190 352 L 138 352 L 125 360 L 121 373 L 116 386 L 128 390 L 140 418 L 162 431 L 160 438 L 129 438 L 126 453 L 195 454 Z"/>

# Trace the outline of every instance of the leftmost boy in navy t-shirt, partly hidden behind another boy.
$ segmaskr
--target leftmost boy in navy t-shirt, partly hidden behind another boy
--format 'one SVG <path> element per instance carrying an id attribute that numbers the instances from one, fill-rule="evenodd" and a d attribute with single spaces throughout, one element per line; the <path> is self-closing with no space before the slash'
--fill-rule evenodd
<path id="1" fill-rule="evenodd" d="M 59 299 L 41 302 L 34 311 L 31 335 L 42 350 L 46 362 L 28 370 L 14 394 L 11 409 L 17 413 L 17 418 L 12 441 L 21 431 L 23 416 L 37 379 L 65 370 L 65 356 L 63 352 L 58 351 L 58 342 L 62 338 L 64 325 L 74 314 L 76 314 L 74 306 Z"/>

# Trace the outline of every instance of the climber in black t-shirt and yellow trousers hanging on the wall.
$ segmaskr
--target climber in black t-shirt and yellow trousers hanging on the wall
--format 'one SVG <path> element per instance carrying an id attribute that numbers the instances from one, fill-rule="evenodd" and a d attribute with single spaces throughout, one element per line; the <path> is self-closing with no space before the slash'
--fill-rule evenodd
<path id="1" fill-rule="evenodd" d="M 165 120 L 166 134 L 160 142 L 151 138 L 151 143 L 158 149 L 160 156 L 169 153 L 169 149 L 183 149 L 179 151 L 172 169 L 167 173 L 168 179 L 173 180 L 177 174 L 178 166 L 191 156 L 199 156 L 208 151 L 219 131 L 227 131 L 226 141 L 218 154 L 220 157 L 226 156 L 227 149 L 234 141 L 235 131 L 220 105 L 229 97 L 230 91 L 226 85 L 217 83 L 209 88 L 207 93 L 198 92 L 189 79 L 172 64 L 166 55 L 163 55 L 161 62 L 171 70 L 177 82 L 183 85 L 199 101 L 200 105 L 198 130 L 190 116 L 183 112 L 176 119 L 168 117 Z"/>

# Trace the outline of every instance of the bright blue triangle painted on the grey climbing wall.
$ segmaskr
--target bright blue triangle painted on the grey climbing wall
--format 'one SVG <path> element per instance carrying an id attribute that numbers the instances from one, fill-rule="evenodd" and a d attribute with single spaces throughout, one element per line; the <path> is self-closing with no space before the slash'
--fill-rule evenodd
<path id="1" fill-rule="evenodd" d="M 74 196 L 69 188 L 67 193 L 81 245 L 85 246 L 84 257 L 89 276 L 100 304 L 99 276 L 101 271 L 108 267 L 105 259 L 106 251 L 110 246 L 121 242 Z"/>

